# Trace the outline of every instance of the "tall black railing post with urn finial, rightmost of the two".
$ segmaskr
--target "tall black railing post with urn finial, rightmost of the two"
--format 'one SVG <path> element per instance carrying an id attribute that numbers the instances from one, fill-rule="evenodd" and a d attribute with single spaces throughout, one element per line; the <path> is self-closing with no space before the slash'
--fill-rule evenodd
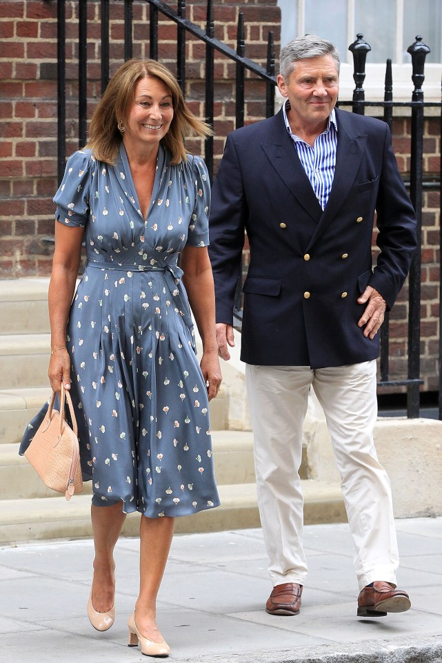
<path id="1" fill-rule="evenodd" d="M 409 279 L 409 311 L 408 311 L 408 379 L 419 380 L 420 374 L 420 308 L 421 308 L 421 236 L 422 236 L 422 180 L 423 180 L 423 91 L 425 78 L 423 68 L 425 57 L 430 48 L 423 44 L 422 37 L 407 49 L 412 58 L 412 126 L 411 126 L 411 164 L 410 164 L 410 198 L 417 219 L 417 249 L 410 269 Z M 410 419 L 419 416 L 419 383 L 408 387 L 407 412 Z"/>

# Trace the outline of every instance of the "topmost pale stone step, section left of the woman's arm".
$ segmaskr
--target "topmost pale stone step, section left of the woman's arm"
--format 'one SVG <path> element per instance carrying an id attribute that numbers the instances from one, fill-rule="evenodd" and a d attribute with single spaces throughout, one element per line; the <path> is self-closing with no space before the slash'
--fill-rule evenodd
<path id="1" fill-rule="evenodd" d="M 0 334 L 49 332 L 49 278 L 0 280 Z"/>

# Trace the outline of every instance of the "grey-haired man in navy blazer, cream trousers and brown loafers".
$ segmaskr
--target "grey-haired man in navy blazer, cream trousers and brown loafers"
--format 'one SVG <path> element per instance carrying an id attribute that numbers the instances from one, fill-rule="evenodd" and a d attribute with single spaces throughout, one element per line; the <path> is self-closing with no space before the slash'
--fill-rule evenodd
<path id="1" fill-rule="evenodd" d="M 416 220 L 384 122 L 334 108 L 339 55 L 314 35 L 281 51 L 285 97 L 274 117 L 228 136 L 212 193 L 210 258 L 219 352 L 234 345 L 232 309 L 244 230 L 241 358 L 254 430 L 257 493 L 274 586 L 272 615 L 297 615 L 307 575 L 299 479 L 310 386 L 325 412 L 354 540 L 359 616 L 410 608 L 390 482 L 376 457 L 377 332 L 416 248 Z M 381 253 L 372 269 L 377 213 Z"/>

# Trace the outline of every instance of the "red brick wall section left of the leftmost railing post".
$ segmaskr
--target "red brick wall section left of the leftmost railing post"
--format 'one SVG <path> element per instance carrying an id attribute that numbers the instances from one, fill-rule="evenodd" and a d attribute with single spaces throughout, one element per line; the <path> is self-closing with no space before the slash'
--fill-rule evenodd
<path id="1" fill-rule="evenodd" d="M 57 84 L 57 3 L 0 3 L 0 132 L 2 199 L 0 276 L 48 273 L 41 236 L 53 231 Z"/>

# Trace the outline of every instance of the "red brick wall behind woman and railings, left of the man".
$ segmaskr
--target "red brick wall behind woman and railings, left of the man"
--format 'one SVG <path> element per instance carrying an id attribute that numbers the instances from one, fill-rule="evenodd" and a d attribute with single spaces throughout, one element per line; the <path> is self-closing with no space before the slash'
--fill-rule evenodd
<path id="1" fill-rule="evenodd" d="M 86 1 L 86 0 L 81 0 Z M 176 8 L 177 3 L 169 1 Z M 88 0 L 88 117 L 100 95 L 101 22 L 99 0 Z M 66 155 L 78 148 L 78 7 L 66 2 Z M 205 27 L 205 0 L 188 0 L 187 17 Z M 246 55 L 265 66 L 268 30 L 279 40 L 277 0 L 217 0 L 215 36 L 236 48 L 237 20 L 243 11 Z M 149 57 L 149 6 L 134 0 L 133 56 Z M 110 73 L 123 63 L 123 2 L 110 2 Z M 177 27 L 159 15 L 159 59 L 176 70 Z M 205 117 L 205 48 L 188 37 L 186 97 Z M 44 242 L 54 229 L 52 196 L 57 190 L 57 2 L 8 0 L 0 3 L 0 278 L 50 273 L 52 247 Z M 215 61 L 215 153 L 234 128 L 234 65 Z M 226 78 L 227 77 L 227 78 Z M 265 88 L 248 76 L 245 121 L 265 113 Z M 201 142 L 191 151 L 203 154 Z"/>

